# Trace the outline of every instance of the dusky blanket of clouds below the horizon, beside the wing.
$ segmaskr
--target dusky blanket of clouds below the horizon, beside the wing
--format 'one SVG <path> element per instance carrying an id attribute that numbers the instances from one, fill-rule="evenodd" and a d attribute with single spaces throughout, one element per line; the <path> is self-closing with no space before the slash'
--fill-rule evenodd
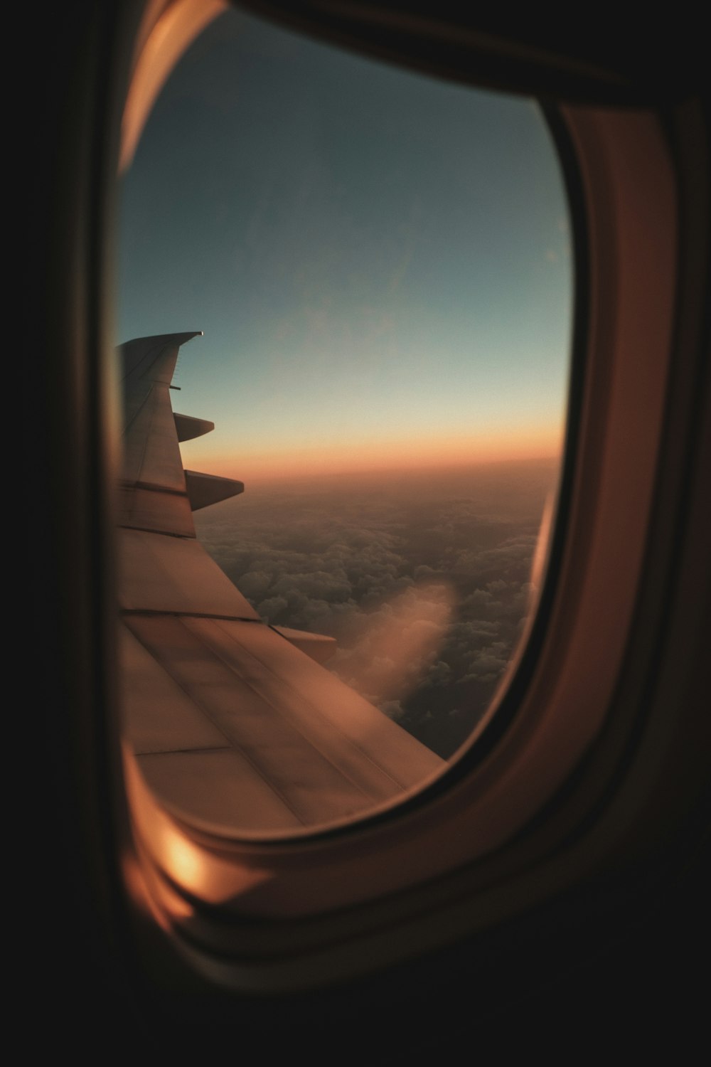
<path id="1" fill-rule="evenodd" d="M 198 536 L 263 619 L 336 637 L 329 669 L 447 758 L 518 646 L 555 473 L 257 488 L 196 514 Z"/>

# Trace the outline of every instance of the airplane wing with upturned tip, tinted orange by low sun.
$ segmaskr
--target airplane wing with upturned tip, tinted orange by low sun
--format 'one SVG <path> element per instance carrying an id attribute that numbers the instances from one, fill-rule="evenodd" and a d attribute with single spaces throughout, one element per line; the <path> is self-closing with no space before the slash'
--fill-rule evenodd
<path id="1" fill-rule="evenodd" d="M 288 831 L 362 814 L 445 762 L 321 666 L 333 638 L 264 623 L 197 541 L 192 512 L 244 487 L 182 467 L 179 441 L 213 429 L 171 402 L 179 348 L 195 336 L 120 348 L 127 739 L 161 801 L 210 828 Z"/>

